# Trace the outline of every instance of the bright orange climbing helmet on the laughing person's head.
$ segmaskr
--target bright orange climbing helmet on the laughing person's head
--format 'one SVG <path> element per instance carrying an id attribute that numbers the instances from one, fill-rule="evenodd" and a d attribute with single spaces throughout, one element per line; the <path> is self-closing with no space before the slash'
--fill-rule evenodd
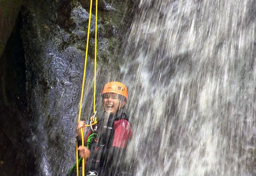
<path id="1" fill-rule="evenodd" d="M 126 86 L 123 83 L 117 81 L 106 83 L 101 94 L 103 93 L 117 93 L 119 95 L 123 95 L 126 100 L 128 97 Z"/>

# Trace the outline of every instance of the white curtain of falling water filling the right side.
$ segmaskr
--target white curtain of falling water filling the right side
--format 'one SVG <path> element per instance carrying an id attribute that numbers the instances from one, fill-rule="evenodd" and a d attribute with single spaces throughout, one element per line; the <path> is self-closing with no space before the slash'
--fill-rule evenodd
<path id="1" fill-rule="evenodd" d="M 256 174 L 255 14 L 253 0 L 139 2 L 121 64 L 136 175 Z"/>

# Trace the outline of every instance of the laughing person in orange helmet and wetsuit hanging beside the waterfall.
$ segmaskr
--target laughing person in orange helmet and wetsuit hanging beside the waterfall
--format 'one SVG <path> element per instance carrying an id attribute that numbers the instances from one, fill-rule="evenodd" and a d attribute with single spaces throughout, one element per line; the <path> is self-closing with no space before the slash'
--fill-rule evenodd
<path id="1" fill-rule="evenodd" d="M 81 145 L 78 147 L 79 156 L 87 160 L 85 175 L 125 175 L 120 165 L 132 136 L 131 124 L 122 112 L 127 94 L 123 83 L 114 81 L 105 84 L 101 93 L 105 116 L 98 120 L 94 131 L 87 133 L 84 143 L 92 133 L 97 133 L 96 138 L 91 140 L 89 148 Z M 80 129 L 85 133 L 84 125 L 84 121 L 79 121 L 76 128 L 79 141 L 82 139 Z"/>

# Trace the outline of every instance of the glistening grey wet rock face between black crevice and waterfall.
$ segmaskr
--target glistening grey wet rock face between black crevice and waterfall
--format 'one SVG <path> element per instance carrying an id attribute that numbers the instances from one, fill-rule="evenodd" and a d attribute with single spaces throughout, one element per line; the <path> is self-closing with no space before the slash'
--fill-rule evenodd
<path id="1" fill-rule="evenodd" d="M 120 43 L 129 26 L 131 7 L 124 1 L 99 1 L 98 82 L 119 75 Z M 95 5 L 93 5 L 95 7 Z M 94 74 L 95 8 L 93 7 L 82 118 L 91 115 Z M 35 171 L 64 175 L 75 162 L 75 127 L 84 71 L 89 7 L 84 1 L 30 1 L 21 10 L 24 48 L 26 141 L 35 156 Z M 111 77 L 109 77 L 111 76 Z M 107 79 L 106 79 L 107 78 Z M 88 103 L 89 102 L 89 103 Z M 100 98 L 98 101 L 100 107 Z"/>

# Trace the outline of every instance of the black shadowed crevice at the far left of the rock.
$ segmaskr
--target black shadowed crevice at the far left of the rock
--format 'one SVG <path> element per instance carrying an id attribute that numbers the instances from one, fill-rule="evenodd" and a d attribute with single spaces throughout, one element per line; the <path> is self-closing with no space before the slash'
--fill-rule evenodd
<path id="1" fill-rule="evenodd" d="M 0 58 L 0 173 L 33 175 L 34 155 L 27 138 L 29 115 L 26 98 L 24 50 L 20 36 L 21 15 Z M 13 169 L 15 168 L 15 169 Z"/>

